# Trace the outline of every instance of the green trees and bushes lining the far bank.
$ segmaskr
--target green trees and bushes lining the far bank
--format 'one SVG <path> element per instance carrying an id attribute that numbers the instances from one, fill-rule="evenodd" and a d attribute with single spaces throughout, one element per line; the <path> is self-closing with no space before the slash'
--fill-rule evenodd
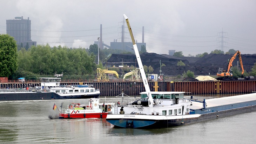
<path id="1" fill-rule="evenodd" d="M 92 44 L 89 49 L 85 48 L 68 48 L 67 46 L 50 45 L 32 45 L 31 48 L 17 50 L 16 41 L 7 34 L 0 34 L 0 77 L 9 79 L 37 79 L 38 77 L 52 77 L 55 72 L 64 73 L 63 79 L 94 79 L 96 77 L 96 68 L 105 69 L 102 62 L 107 62 L 112 53 L 128 54 L 131 52 L 114 49 L 99 49 L 100 64 L 97 65 L 98 45 Z M 235 53 L 230 50 L 230 53 Z M 140 53 L 146 52 L 142 46 Z M 220 52 L 214 50 L 211 53 Z M 207 55 L 198 54 L 198 57 Z M 175 52 L 174 56 L 183 56 L 182 52 Z M 183 65 L 177 64 L 177 66 Z M 164 66 L 164 65 L 163 65 Z M 143 66 L 145 72 L 153 72 L 151 66 Z M 124 65 L 122 72 L 129 72 L 135 69 L 134 66 L 128 68 Z M 108 68 L 112 69 L 112 68 Z M 119 72 L 119 69 L 113 69 Z M 119 72 L 120 73 L 120 72 Z M 123 74 L 124 74 L 123 73 Z M 256 64 L 252 68 L 252 75 L 256 75 Z"/>

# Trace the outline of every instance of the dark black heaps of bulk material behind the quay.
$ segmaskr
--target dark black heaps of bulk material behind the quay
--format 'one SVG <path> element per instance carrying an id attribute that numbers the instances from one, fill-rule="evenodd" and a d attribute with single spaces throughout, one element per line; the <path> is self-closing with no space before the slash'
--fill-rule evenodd
<path id="1" fill-rule="evenodd" d="M 159 55 L 157 53 L 147 53 L 144 52 L 141 55 L 141 61 L 143 65 L 152 66 L 154 74 L 159 74 L 160 71 L 160 60 L 162 64 L 166 66 L 161 67 L 162 73 L 166 76 L 171 75 L 182 75 L 182 73 L 187 70 L 194 72 L 195 75 L 215 75 L 218 72 L 218 68 L 227 69 L 228 59 L 233 55 L 224 54 L 212 54 L 206 55 L 202 58 L 197 57 L 175 57 L 170 55 Z M 244 70 L 247 72 L 251 71 L 252 66 L 256 63 L 256 55 L 241 55 Z M 177 66 L 178 61 L 182 61 L 186 66 Z M 112 54 L 108 59 L 108 65 L 133 65 L 138 67 L 136 56 L 122 55 L 122 54 Z M 239 58 L 237 57 L 233 61 L 233 66 L 240 67 Z"/>

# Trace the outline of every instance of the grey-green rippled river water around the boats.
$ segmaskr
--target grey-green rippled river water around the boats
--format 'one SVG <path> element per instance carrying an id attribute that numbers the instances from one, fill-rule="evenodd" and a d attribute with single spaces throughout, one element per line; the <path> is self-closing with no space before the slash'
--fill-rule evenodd
<path id="1" fill-rule="evenodd" d="M 214 97 L 214 96 L 213 96 Z M 217 96 L 219 97 L 219 96 Z M 203 98 L 198 96 L 198 99 Z M 106 99 L 117 102 L 122 99 Z M 105 102 L 105 99 L 100 99 Z M 106 119 L 50 119 L 88 99 L 0 101 L 0 143 L 254 144 L 256 112 L 161 129 L 119 129 Z"/>

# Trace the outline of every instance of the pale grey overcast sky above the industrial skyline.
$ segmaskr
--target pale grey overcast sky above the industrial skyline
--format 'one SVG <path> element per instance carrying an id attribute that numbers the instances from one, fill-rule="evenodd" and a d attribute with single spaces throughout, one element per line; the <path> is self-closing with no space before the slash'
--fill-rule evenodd
<path id="1" fill-rule="evenodd" d="M 224 42 L 224 52 L 256 53 L 255 0 L 1 0 L 0 9 L 0 34 L 6 34 L 6 20 L 29 17 L 37 44 L 89 48 L 100 37 L 100 24 L 105 44 L 121 42 L 126 14 L 137 42 L 144 26 L 148 52 L 196 55 Z M 128 30 L 126 37 L 131 42 Z"/>

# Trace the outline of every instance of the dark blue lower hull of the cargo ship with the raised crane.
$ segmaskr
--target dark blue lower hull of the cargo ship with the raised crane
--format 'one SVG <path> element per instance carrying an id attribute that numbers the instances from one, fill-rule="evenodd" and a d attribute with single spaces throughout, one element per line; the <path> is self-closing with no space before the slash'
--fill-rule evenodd
<path id="1" fill-rule="evenodd" d="M 234 108 L 229 110 L 222 110 L 217 112 L 210 112 L 206 114 L 190 114 L 190 116 L 198 115 L 190 118 L 178 118 L 173 119 L 173 116 L 166 116 L 165 120 L 158 120 L 160 116 L 153 116 L 151 119 L 135 119 L 135 118 L 108 118 L 107 121 L 113 124 L 116 128 L 141 128 L 141 129 L 154 129 L 154 128 L 168 128 L 179 125 L 191 124 L 196 122 L 202 122 L 220 117 L 232 116 L 236 114 L 248 113 L 256 111 L 256 105 L 246 106 L 241 108 Z M 146 115 L 144 115 L 145 117 Z M 186 116 L 186 115 L 184 115 Z M 152 116 L 151 116 L 152 117 Z M 145 117 L 146 118 L 146 117 Z"/>

